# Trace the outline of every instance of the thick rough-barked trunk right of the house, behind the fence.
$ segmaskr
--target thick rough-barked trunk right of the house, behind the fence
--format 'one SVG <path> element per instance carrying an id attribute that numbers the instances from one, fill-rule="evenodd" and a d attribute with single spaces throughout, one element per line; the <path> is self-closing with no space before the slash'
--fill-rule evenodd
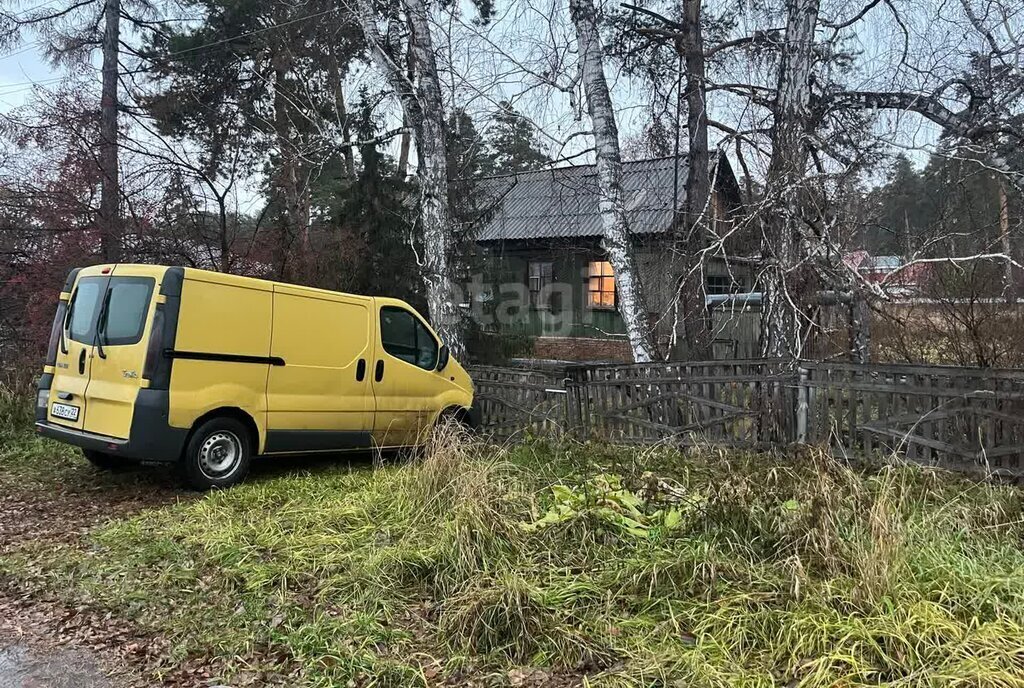
<path id="1" fill-rule="evenodd" d="M 807 168 L 806 128 L 811 112 L 811 68 L 819 0 L 787 0 L 785 42 L 778 71 L 772 155 L 761 273 L 761 352 L 766 358 L 800 358 L 807 285 L 797 274 Z"/>

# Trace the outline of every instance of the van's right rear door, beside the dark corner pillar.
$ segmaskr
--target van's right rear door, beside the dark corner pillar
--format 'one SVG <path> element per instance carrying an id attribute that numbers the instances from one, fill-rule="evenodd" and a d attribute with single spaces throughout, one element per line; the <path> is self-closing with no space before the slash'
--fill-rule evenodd
<path id="1" fill-rule="evenodd" d="M 86 432 L 127 438 L 143 384 L 157 277 L 165 268 L 118 265 L 99 302 L 86 388 Z"/>

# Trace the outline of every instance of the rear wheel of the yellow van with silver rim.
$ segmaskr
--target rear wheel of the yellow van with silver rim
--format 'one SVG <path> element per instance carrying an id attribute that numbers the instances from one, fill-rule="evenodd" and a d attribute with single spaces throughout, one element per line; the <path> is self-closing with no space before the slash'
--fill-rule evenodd
<path id="1" fill-rule="evenodd" d="M 181 459 L 185 481 L 196 489 L 230 487 L 249 474 L 252 436 L 239 420 L 211 418 L 191 433 Z"/>

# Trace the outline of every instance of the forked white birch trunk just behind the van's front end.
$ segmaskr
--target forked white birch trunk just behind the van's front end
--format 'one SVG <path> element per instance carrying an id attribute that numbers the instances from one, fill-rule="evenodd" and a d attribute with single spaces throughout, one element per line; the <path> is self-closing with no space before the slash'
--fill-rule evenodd
<path id="1" fill-rule="evenodd" d="M 410 48 L 418 79 L 385 49 L 370 0 L 357 0 L 359 24 L 378 68 L 391 82 L 402 113 L 416 137 L 417 175 L 420 184 L 420 229 L 423 236 L 423 281 L 430 321 L 455 356 L 465 353 L 462 314 L 456 270 L 456 239 L 449 207 L 447 153 L 444 139 L 444 103 L 430 38 L 424 0 L 404 0 L 412 30 Z"/>

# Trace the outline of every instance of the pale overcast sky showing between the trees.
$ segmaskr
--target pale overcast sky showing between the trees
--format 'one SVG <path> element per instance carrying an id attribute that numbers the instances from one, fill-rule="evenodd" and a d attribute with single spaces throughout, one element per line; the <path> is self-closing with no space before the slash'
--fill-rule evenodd
<path id="1" fill-rule="evenodd" d="M 13 4 L 11 0 L 0 2 Z M 462 0 L 461 12 L 436 15 L 436 28 L 453 37 L 451 42 L 439 45 L 449 46 L 441 55 L 442 67 L 445 63 L 455 66 L 447 71 L 447 90 L 456 104 L 467 107 L 482 123 L 499 100 L 512 99 L 542 130 L 541 138 L 550 155 L 572 158 L 589 147 L 586 138 L 572 137 L 573 132 L 585 128 L 578 119 L 579 111 L 570 107 L 566 94 L 541 85 L 537 78 L 523 76 L 521 69 L 525 66 L 541 72 L 545 60 L 550 61 L 551 44 L 571 45 L 574 42 L 564 4 L 564 0 L 500 1 L 497 19 L 487 29 L 480 29 L 472 20 L 473 11 L 468 0 Z M 713 4 L 713 0 L 709 4 Z M 952 50 L 951 39 L 955 38 L 955 27 L 943 18 L 941 4 L 941 0 L 907 0 L 903 5 L 908 12 L 906 23 L 911 32 L 911 49 L 918 53 L 924 50 L 928 61 L 935 63 L 948 61 L 947 51 Z M 36 3 L 25 0 L 17 4 L 15 11 L 37 6 L 38 0 Z M 843 16 L 844 12 L 851 11 L 848 7 L 849 3 L 825 0 L 823 12 Z M 753 1 L 739 11 L 737 19 L 740 33 L 763 29 L 768 20 L 761 5 Z M 29 41 L 32 40 L 30 36 Z M 891 70 L 899 61 L 903 41 L 890 17 L 876 13 L 859 25 L 847 47 L 859 53 L 858 74 L 854 78 L 859 86 L 869 87 L 880 79 L 893 76 Z M 28 102 L 33 96 L 33 83 L 53 88 L 59 85 L 60 76 L 60 72 L 46 63 L 33 42 L 0 53 L 0 113 Z M 767 72 L 759 77 L 770 79 Z M 620 110 L 623 139 L 634 138 L 649 120 L 649 94 L 644 87 L 623 78 L 614 70 L 609 71 L 609 78 Z M 359 82 L 376 83 L 379 79 L 372 70 L 356 71 L 351 77 L 353 92 Z M 95 81 L 98 90 L 98 70 Z M 736 124 L 748 116 L 736 112 L 734 102 L 725 98 L 713 99 L 710 106 L 714 119 L 729 124 Z M 397 114 L 395 119 L 397 121 Z M 934 126 L 913 115 L 882 118 L 879 131 L 892 143 L 893 150 L 905 150 L 919 165 L 927 160 L 926 152 L 934 145 L 938 133 Z M 563 144 L 566 139 L 568 142 Z M 589 159 L 586 156 L 573 158 L 573 162 L 589 162 Z"/>

